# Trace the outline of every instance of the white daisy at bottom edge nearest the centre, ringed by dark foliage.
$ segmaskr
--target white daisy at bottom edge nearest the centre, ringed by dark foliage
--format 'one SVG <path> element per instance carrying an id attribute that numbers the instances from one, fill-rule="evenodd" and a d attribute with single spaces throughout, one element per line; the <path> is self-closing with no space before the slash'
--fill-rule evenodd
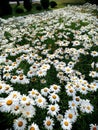
<path id="1" fill-rule="evenodd" d="M 47 130 L 53 130 L 53 126 L 54 126 L 53 119 L 50 117 L 46 117 L 46 119 L 44 120 L 44 126 Z"/>

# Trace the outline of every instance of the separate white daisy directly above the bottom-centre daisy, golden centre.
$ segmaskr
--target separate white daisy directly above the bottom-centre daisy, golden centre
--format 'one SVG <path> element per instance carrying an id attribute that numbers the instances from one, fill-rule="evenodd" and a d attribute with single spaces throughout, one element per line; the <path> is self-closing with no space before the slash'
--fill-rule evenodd
<path id="1" fill-rule="evenodd" d="M 57 113 L 59 112 L 60 108 L 58 104 L 54 104 L 54 105 L 48 105 L 48 114 L 50 114 L 51 116 L 56 116 Z"/>

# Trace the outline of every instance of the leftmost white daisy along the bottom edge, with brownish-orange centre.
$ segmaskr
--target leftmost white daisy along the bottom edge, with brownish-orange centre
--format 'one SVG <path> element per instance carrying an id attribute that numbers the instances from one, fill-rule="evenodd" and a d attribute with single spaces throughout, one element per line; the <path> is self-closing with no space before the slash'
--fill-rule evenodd
<path id="1" fill-rule="evenodd" d="M 24 130 L 26 128 L 27 121 L 22 117 L 14 120 L 13 127 L 14 130 Z"/>

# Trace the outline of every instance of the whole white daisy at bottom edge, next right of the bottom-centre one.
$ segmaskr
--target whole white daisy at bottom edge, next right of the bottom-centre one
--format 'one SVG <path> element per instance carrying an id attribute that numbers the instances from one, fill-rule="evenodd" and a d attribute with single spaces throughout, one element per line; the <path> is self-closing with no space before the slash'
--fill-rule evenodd
<path id="1" fill-rule="evenodd" d="M 63 130 L 71 130 L 72 129 L 72 123 L 70 122 L 70 119 L 65 119 L 61 121 L 61 127 Z"/>

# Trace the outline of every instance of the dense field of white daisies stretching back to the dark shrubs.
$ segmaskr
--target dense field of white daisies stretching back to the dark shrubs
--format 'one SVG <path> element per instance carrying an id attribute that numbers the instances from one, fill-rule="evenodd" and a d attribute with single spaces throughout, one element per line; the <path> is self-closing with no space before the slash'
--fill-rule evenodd
<path id="1" fill-rule="evenodd" d="M 0 111 L 18 115 L 13 121 L 15 130 L 53 130 L 56 122 L 63 130 L 71 130 L 80 113 L 94 111 L 94 104 L 83 96 L 98 89 L 98 19 L 92 15 L 95 9 L 96 5 L 85 4 L 0 19 L 0 68 L 4 73 L 0 95 L 7 95 L 0 98 Z M 92 81 L 77 69 L 88 56 Z M 62 110 L 66 94 L 70 99 L 68 109 Z M 37 124 L 38 108 L 39 114 L 44 110 L 42 126 Z"/>

